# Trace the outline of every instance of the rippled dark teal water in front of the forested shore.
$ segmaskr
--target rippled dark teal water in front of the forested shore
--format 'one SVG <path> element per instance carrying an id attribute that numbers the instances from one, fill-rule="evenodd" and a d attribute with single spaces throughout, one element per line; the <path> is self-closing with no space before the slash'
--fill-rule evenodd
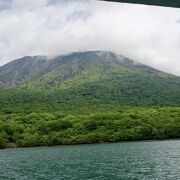
<path id="1" fill-rule="evenodd" d="M 180 141 L 0 150 L 0 179 L 180 179 Z"/>

